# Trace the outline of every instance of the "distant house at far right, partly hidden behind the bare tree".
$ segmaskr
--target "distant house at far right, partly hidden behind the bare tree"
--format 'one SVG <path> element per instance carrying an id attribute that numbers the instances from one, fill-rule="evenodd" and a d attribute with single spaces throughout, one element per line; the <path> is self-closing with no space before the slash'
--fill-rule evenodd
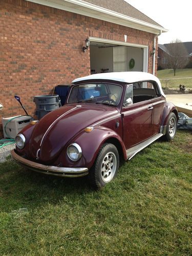
<path id="1" fill-rule="evenodd" d="M 181 44 L 184 45 L 187 51 L 187 57 L 188 57 L 188 64 L 186 68 L 192 68 L 192 42 L 182 42 Z M 168 55 L 169 51 L 167 49 L 167 46 L 170 44 L 164 44 L 164 45 L 158 45 L 158 69 L 168 69 Z"/>

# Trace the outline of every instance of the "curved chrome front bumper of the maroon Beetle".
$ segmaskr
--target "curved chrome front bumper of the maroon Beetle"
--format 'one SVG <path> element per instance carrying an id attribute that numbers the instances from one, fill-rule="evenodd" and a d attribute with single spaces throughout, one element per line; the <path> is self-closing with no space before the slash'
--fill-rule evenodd
<path id="1" fill-rule="evenodd" d="M 69 167 L 44 165 L 44 164 L 30 161 L 24 157 L 21 157 L 17 155 L 17 153 L 14 150 L 11 151 L 11 156 L 16 163 L 26 168 L 35 170 L 35 172 L 39 172 L 39 173 L 60 176 L 60 177 L 82 177 L 89 174 L 89 170 L 86 167 L 69 168 Z"/>

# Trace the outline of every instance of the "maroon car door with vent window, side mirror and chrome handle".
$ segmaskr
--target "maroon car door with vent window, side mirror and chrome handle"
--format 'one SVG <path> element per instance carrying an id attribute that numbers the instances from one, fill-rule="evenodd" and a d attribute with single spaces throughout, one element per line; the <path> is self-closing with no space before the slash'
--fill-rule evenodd
<path id="1" fill-rule="evenodd" d="M 126 149 L 153 136 L 153 109 L 150 100 L 134 103 L 133 84 L 127 85 L 121 110 Z"/>

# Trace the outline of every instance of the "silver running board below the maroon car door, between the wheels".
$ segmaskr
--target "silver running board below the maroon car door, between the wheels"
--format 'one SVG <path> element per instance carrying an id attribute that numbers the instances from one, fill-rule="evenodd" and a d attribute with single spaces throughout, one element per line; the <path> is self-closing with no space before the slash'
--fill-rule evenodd
<path id="1" fill-rule="evenodd" d="M 147 139 L 147 140 L 137 144 L 136 146 L 133 146 L 133 147 L 129 148 L 129 150 L 126 150 L 126 157 L 127 157 L 127 159 L 130 160 L 139 151 L 143 150 L 143 148 L 145 148 L 146 146 L 150 145 L 152 142 L 154 142 L 155 140 L 159 139 L 161 136 L 163 136 L 163 134 L 162 133 L 158 133 L 155 136 L 151 137 L 150 139 Z"/>

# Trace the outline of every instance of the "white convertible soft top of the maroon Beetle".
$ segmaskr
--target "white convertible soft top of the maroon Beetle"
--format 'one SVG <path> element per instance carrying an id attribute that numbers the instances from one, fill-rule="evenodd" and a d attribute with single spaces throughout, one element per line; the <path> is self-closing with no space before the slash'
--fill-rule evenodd
<path id="1" fill-rule="evenodd" d="M 107 80 L 114 80 L 119 82 L 126 82 L 126 83 L 133 83 L 133 82 L 139 82 L 139 81 L 147 81 L 152 80 L 156 81 L 159 87 L 159 90 L 161 92 L 161 95 L 166 97 L 163 93 L 163 90 L 161 88 L 161 83 L 159 79 L 146 72 L 111 72 L 111 73 L 100 73 L 100 74 L 94 74 L 89 76 L 84 76 L 77 78 L 72 81 L 72 83 L 85 81 L 85 80 L 95 80 L 95 79 L 107 79 Z"/>

